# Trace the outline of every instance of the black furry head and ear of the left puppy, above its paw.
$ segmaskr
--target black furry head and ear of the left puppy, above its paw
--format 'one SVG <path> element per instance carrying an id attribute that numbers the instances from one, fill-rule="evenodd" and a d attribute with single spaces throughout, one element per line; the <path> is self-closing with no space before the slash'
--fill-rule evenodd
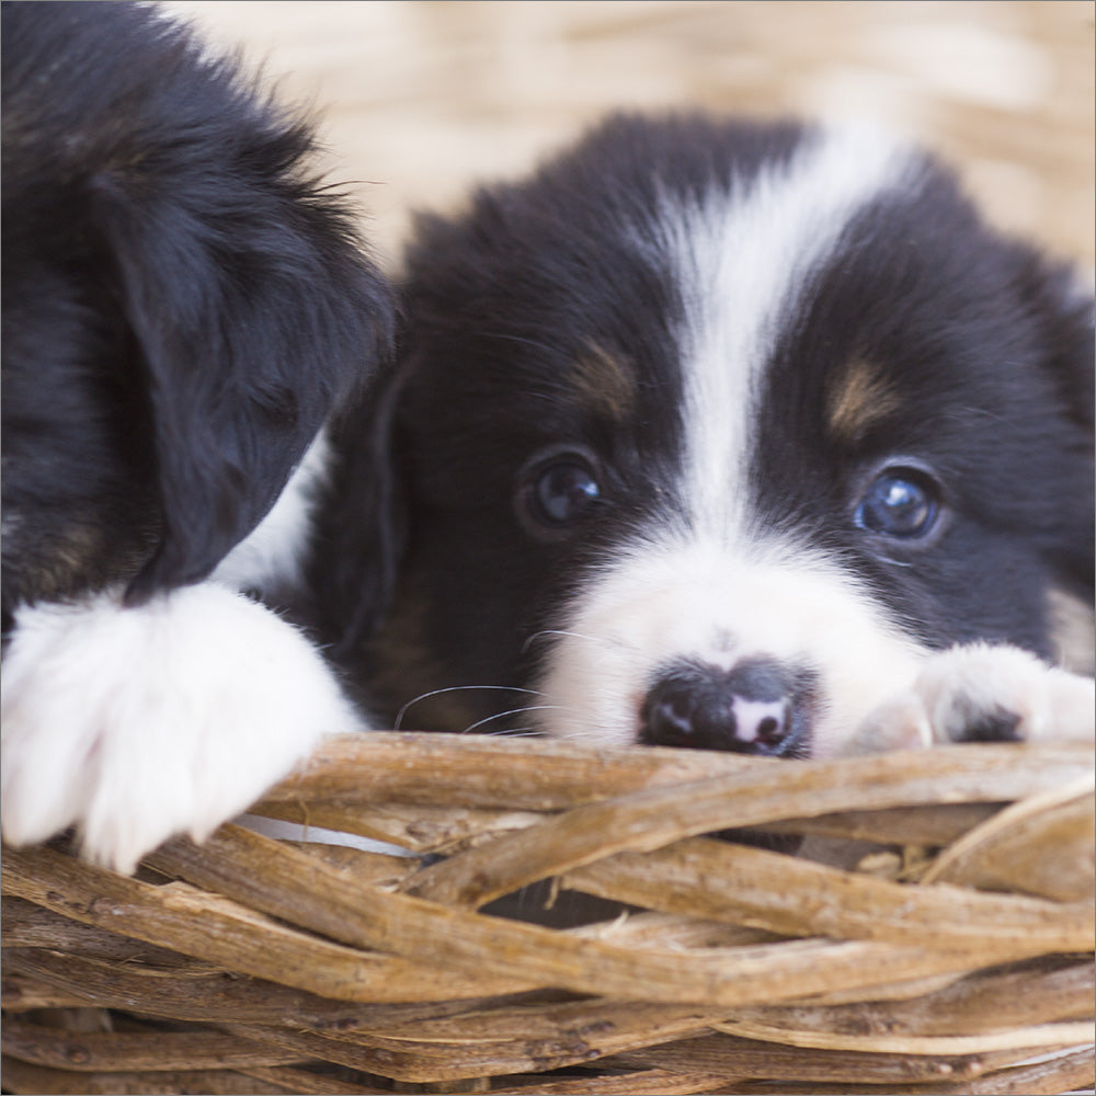
<path id="1" fill-rule="evenodd" d="M 3 5 L 3 610 L 207 575 L 390 341 L 311 127 L 134 3 Z"/>

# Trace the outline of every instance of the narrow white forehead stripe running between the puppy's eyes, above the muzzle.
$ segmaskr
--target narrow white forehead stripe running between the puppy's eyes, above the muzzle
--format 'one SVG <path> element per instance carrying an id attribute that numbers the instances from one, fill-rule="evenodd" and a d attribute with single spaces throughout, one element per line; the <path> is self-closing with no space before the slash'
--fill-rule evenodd
<path id="1" fill-rule="evenodd" d="M 853 217 L 907 175 L 909 148 L 869 130 L 819 130 L 784 162 L 662 210 L 684 305 L 678 333 L 694 528 L 726 540 L 744 516 L 758 376 L 781 320 Z"/>

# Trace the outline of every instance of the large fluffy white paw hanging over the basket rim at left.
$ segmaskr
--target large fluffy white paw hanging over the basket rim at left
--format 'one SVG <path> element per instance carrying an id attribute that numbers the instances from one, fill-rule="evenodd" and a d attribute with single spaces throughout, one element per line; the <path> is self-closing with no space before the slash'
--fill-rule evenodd
<path id="1" fill-rule="evenodd" d="M 76 824 L 84 855 L 125 872 L 208 836 L 322 734 L 363 729 L 302 635 L 213 583 L 20 609 L 0 715 L 4 840 Z"/>

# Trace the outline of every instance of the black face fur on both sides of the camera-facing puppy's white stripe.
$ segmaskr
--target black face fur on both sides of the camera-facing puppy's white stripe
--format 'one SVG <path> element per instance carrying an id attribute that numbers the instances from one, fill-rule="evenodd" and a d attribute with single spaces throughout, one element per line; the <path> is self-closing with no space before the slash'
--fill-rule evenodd
<path id="1" fill-rule="evenodd" d="M 356 558 L 369 561 L 358 575 L 375 578 L 377 560 L 396 573 L 399 555 L 395 608 L 377 637 L 347 626 L 346 583 L 324 626 L 386 718 L 431 690 L 529 686 L 543 651 L 530 638 L 559 627 L 561 602 L 603 549 L 673 511 L 682 302 L 635 240 L 657 220 L 660 195 L 687 204 L 786 158 L 802 136 L 707 117 L 616 118 L 530 181 L 419 222 L 402 364 L 378 401 L 391 483 L 368 489 L 389 504 L 352 516 L 350 475 L 329 511 L 341 509 L 341 532 L 318 568 L 345 571 Z M 1048 590 L 1092 597 L 1091 298 L 1066 270 L 989 229 L 926 161 L 916 186 L 858 216 L 809 300 L 766 367 L 757 520 L 838 556 L 929 647 L 986 639 L 1049 655 Z M 636 375 L 623 421 L 578 406 L 564 379 L 591 344 Z M 857 353 L 883 364 L 900 410 L 838 442 L 820 408 Z M 343 443 L 344 469 L 354 437 L 374 430 L 363 415 Z M 597 463 L 600 505 L 568 535 L 532 536 L 517 513 L 523 469 L 560 444 Z M 932 545 L 882 544 L 849 520 L 865 477 L 895 452 L 943 479 L 947 521 Z M 385 592 L 367 580 L 358 595 L 372 607 Z M 515 696 L 446 693 L 409 719 L 460 730 L 521 707 Z"/>

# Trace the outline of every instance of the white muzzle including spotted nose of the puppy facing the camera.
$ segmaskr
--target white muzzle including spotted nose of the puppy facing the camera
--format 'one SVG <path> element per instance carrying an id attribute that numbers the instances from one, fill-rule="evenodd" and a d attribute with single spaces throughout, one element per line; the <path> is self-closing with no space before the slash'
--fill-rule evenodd
<path id="1" fill-rule="evenodd" d="M 614 746 L 834 756 L 858 750 L 856 729 L 912 685 L 926 654 L 807 550 L 644 545 L 571 603 L 541 665 L 540 729 Z M 667 688 L 666 667 L 682 664 L 695 671 Z"/>

